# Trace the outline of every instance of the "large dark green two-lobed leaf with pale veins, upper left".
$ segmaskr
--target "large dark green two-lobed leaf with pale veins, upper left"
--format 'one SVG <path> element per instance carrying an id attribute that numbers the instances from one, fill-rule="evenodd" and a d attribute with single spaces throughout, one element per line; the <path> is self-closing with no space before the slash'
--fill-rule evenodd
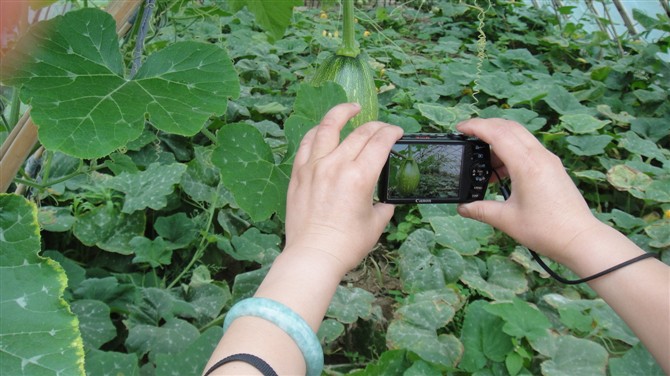
<path id="1" fill-rule="evenodd" d="M 194 135 L 240 91 L 228 54 L 208 43 L 174 43 L 125 77 L 114 19 L 95 8 L 35 25 L 3 60 L 2 80 L 22 86 L 42 144 L 81 158 L 138 138 L 147 117 L 162 131 Z"/>

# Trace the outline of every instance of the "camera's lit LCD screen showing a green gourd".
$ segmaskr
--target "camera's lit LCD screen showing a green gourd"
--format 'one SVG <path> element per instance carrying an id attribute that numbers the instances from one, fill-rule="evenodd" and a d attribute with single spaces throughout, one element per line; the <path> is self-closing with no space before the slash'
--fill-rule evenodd
<path id="1" fill-rule="evenodd" d="M 457 199 L 463 148 L 463 144 L 395 144 L 389 157 L 388 198 Z"/>

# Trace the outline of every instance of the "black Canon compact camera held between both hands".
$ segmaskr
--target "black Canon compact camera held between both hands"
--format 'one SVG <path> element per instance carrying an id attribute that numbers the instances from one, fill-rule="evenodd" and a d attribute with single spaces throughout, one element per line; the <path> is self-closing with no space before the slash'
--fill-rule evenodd
<path id="1" fill-rule="evenodd" d="M 460 134 L 416 133 L 393 146 L 379 178 L 379 200 L 392 204 L 482 200 L 491 177 L 484 141 Z"/>

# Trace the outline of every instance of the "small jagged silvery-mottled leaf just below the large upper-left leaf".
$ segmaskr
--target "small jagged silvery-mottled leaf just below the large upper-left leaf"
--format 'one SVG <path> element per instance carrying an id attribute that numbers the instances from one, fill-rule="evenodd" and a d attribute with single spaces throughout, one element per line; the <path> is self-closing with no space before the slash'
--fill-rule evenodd
<path id="1" fill-rule="evenodd" d="M 146 208 L 158 210 L 167 205 L 167 196 L 172 193 L 185 171 L 186 165 L 181 163 L 152 163 L 145 171 L 124 172 L 107 180 L 104 185 L 126 194 L 122 210 L 124 213 Z"/>

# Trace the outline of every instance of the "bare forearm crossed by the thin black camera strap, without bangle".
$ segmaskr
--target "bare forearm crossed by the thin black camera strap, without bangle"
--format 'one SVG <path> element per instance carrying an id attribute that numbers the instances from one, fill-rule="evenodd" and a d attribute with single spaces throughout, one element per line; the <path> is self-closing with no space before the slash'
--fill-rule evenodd
<path id="1" fill-rule="evenodd" d="M 613 228 L 602 224 L 581 234 L 569 245 L 565 264 L 581 277 L 644 253 Z M 628 265 L 589 285 L 629 325 L 670 374 L 670 267 L 656 259 Z"/>

